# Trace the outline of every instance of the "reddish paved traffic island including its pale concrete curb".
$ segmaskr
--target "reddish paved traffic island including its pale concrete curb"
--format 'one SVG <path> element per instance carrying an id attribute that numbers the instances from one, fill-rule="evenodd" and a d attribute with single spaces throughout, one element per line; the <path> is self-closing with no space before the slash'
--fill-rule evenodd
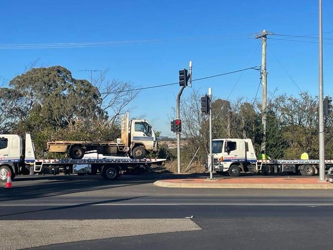
<path id="1" fill-rule="evenodd" d="M 155 181 L 154 185 L 193 189 L 333 189 L 333 183 L 319 182 L 318 178 L 308 177 L 168 179 Z"/>

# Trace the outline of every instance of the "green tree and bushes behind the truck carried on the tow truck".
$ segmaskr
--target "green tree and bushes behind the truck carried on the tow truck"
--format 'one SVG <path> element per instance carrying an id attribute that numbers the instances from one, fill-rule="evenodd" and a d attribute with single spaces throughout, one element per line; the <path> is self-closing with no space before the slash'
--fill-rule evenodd
<path id="1" fill-rule="evenodd" d="M 113 88 L 131 89 L 131 84 L 112 81 L 104 88 L 112 93 Z M 37 157 L 64 157 L 44 152 L 46 142 L 119 138 L 117 117 L 135 94 L 100 94 L 89 81 L 73 78 L 61 66 L 33 68 L 14 77 L 9 88 L 0 88 L 0 133 L 31 133 Z M 115 112 L 112 119 L 108 109 Z"/>

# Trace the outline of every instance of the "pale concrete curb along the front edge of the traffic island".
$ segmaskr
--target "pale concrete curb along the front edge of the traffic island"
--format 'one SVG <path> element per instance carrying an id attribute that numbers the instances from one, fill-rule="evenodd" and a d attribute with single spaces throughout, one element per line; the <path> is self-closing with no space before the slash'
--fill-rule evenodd
<path id="1" fill-rule="evenodd" d="M 182 183 L 158 180 L 155 186 L 188 189 L 333 189 L 331 184 Z"/>

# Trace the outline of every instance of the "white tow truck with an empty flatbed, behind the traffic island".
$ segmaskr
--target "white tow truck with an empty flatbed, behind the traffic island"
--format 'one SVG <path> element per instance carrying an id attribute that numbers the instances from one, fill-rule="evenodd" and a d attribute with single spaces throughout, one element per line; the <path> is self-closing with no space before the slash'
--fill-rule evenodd
<path id="1" fill-rule="evenodd" d="M 319 160 L 258 160 L 251 139 L 214 139 L 214 170 L 239 176 L 240 173 L 300 172 L 304 176 L 318 173 Z M 325 160 L 326 168 L 333 160 Z"/>

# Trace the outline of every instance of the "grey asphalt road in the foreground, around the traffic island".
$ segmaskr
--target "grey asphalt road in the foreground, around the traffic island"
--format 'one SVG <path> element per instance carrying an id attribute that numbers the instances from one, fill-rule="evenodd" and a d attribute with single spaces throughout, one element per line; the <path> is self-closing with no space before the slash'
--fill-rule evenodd
<path id="1" fill-rule="evenodd" d="M 0 222 L 16 239 L 25 229 L 33 230 L 17 243 L 10 235 L 0 240 L 11 239 L 10 249 L 34 244 L 46 245 L 34 249 L 333 245 L 329 190 L 170 189 L 152 184 L 170 177 L 151 173 L 113 182 L 99 176 L 18 177 L 13 189 L 0 190 Z"/>

